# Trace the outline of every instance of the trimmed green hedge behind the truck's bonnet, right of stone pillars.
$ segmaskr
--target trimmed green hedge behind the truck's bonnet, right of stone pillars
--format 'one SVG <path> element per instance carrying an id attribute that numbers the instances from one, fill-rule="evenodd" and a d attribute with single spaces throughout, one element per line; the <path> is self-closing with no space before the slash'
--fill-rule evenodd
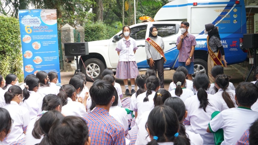
<path id="1" fill-rule="evenodd" d="M 84 26 L 84 29 L 85 42 L 110 39 L 122 30 L 108 26 L 103 22 L 88 23 Z"/>

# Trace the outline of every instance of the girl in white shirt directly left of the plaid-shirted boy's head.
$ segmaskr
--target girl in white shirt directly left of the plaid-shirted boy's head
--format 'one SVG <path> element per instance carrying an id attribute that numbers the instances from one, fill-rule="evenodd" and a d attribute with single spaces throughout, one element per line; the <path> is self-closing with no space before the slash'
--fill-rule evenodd
<path id="1" fill-rule="evenodd" d="M 71 81 L 76 81 L 76 79 L 71 79 Z M 80 82 L 77 82 L 78 84 Z M 84 85 L 81 82 L 82 86 Z M 82 117 L 87 114 L 85 106 L 82 104 L 82 98 L 77 98 L 76 102 L 76 92 L 77 90 L 72 85 L 63 85 L 60 88 L 58 97 L 62 100 L 62 114 L 65 116 L 78 116 Z M 86 99 L 87 100 L 87 99 Z"/>

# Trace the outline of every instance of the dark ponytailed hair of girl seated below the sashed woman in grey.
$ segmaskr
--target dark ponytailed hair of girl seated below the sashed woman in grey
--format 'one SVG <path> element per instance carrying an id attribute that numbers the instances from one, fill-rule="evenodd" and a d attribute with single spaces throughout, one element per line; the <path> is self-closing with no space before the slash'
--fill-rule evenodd
<path id="1" fill-rule="evenodd" d="M 157 87 L 159 87 L 159 78 L 156 76 L 148 77 L 146 81 L 147 92 L 146 92 L 146 97 L 143 99 L 143 102 L 149 101 L 148 96 L 152 94 L 152 91 L 155 91 Z"/>

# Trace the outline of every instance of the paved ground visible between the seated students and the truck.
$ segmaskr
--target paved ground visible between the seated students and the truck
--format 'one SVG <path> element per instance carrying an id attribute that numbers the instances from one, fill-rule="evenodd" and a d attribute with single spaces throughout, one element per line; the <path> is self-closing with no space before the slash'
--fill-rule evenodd
<path id="1" fill-rule="evenodd" d="M 244 81 L 244 76 L 245 78 L 247 77 L 249 73 L 248 67 L 243 67 L 243 64 L 241 63 L 241 66 L 238 64 L 230 65 L 228 68 L 224 68 L 224 73 L 231 76 L 230 82 L 233 83 L 235 87 L 237 87 L 239 82 Z M 174 70 L 170 71 L 164 71 L 164 79 L 165 79 L 165 84 L 164 88 L 168 90 L 169 84 L 172 82 Z M 68 84 L 69 80 L 71 77 L 73 77 L 74 72 L 61 72 L 61 83 L 62 85 Z M 139 74 L 145 74 L 145 72 L 139 72 Z M 249 82 L 253 80 L 253 76 L 251 75 L 248 79 Z M 125 93 L 125 87 L 122 79 L 116 79 L 116 82 L 119 83 L 122 87 L 123 94 Z M 87 82 L 86 86 L 90 89 L 90 86 L 92 86 L 92 82 Z M 129 80 L 129 90 L 131 90 L 130 87 L 130 80 Z M 136 87 L 137 90 L 137 87 Z"/>

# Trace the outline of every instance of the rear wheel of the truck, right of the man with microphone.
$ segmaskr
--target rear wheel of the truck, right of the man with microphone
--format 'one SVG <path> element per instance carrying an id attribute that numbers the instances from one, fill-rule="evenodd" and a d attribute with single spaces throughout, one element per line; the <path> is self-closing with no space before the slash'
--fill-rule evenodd
<path id="1" fill-rule="evenodd" d="M 198 73 L 205 73 L 208 76 L 208 63 L 202 59 L 194 59 L 194 74 L 192 78 Z"/>

